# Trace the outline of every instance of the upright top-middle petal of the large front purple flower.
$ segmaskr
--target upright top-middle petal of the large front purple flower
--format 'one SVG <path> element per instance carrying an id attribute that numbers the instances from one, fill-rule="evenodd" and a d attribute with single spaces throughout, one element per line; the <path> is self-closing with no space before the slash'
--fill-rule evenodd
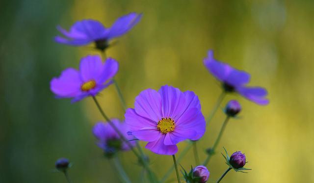
<path id="1" fill-rule="evenodd" d="M 170 117 L 176 121 L 184 111 L 184 94 L 178 88 L 168 85 L 161 86 L 158 92 L 162 101 L 162 116 Z"/>

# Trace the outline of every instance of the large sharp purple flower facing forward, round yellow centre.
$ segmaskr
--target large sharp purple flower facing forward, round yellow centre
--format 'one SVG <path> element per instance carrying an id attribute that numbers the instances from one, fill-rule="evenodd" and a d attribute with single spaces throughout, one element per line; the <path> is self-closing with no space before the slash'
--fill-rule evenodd
<path id="1" fill-rule="evenodd" d="M 132 135 L 147 141 L 146 148 L 156 154 L 174 155 L 177 143 L 198 140 L 205 133 L 205 119 L 198 97 L 172 86 L 159 91 L 146 89 L 136 98 L 134 109 L 125 114 Z"/>

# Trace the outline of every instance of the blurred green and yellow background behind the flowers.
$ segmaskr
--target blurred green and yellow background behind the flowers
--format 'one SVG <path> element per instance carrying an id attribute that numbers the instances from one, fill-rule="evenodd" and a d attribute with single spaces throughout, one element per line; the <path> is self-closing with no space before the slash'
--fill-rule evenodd
<path id="1" fill-rule="evenodd" d="M 0 1 L 0 182 L 65 183 L 54 162 L 73 162 L 74 183 L 119 183 L 118 174 L 95 145 L 93 124 L 102 120 L 91 98 L 71 104 L 57 100 L 50 80 L 79 59 L 99 54 L 92 46 L 57 44 L 57 25 L 68 29 L 81 19 L 110 26 L 129 12 L 143 17 L 107 51 L 120 70 L 116 79 L 133 107 L 140 91 L 169 84 L 192 90 L 209 115 L 221 89 L 203 66 L 215 58 L 252 75 L 251 85 L 267 88 L 270 104 L 259 106 L 228 95 L 243 106 L 240 119 L 228 124 L 218 152 L 245 153 L 248 174 L 231 171 L 226 183 L 314 182 L 314 1 L 313 0 L 2 0 Z M 123 118 L 114 86 L 99 97 L 110 117 Z M 199 156 L 216 138 L 224 114 L 218 110 L 199 142 Z M 145 143 L 141 143 L 142 146 Z M 179 144 L 182 150 L 186 143 Z M 150 156 L 162 177 L 172 157 Z M 179 152 L 180 153 L 180 152 Z M 142 169 L 131 152 L 119 155 L 131 180 Z M 181 164 L 195 166 L 192 151 Z M 218 153 L 208 165 L 209 183 L 227 165 Z M 175 172 L 169 179 L 175 182 Z"/>

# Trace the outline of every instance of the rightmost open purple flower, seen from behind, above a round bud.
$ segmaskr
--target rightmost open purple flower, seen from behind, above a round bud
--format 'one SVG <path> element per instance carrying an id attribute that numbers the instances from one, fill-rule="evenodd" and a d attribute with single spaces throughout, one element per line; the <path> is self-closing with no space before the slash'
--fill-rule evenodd
<path id="1" fill-rule="evenodd" d="M 215 60 L 212 50 L 209 50 L 208 57 L 204 59 L 204 65 L 215 78 L 223 83 L 223 88 L 226 92 L 237 92 L 259 105 L 267 105 L 269 103 L 268 99 L 265 99 L 267 95 L 266 89 L 246 86 L 250 81 L 250 74 Z"/>

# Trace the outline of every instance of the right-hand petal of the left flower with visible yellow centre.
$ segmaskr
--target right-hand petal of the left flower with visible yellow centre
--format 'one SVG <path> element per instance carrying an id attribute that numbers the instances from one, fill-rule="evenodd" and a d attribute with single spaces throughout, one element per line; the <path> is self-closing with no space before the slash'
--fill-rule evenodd
<path id="1" fill-rule="evenodd" d="M 119 63 L 113 58 L 107 58 L 105 60 L 104 69 L 101 76 L 98 79 L 99 83 L 104 83 L 108 79 L 113 78 L 119 70 Z"/>

